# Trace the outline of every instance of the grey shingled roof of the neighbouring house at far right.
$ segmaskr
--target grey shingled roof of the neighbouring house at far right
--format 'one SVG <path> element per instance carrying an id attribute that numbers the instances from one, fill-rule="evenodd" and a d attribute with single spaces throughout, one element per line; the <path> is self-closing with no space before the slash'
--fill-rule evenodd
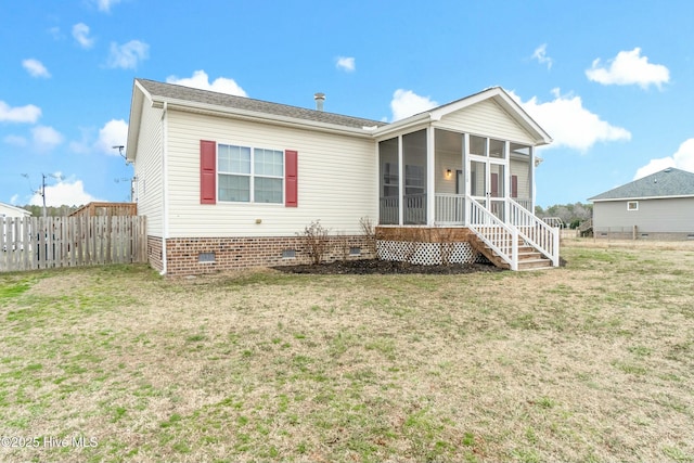
<path id="1" fill-rule="evenodd" d="M 669 167 L 656 173 L 606 191 L 588 201 L 639 200 L 694 196 L 694 173 Z"/>

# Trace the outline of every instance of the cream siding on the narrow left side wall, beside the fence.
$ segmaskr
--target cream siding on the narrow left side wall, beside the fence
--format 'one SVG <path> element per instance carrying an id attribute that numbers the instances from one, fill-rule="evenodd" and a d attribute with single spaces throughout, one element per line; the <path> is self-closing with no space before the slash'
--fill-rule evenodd
<path id="1" fill-rule="evenodd" d="M 142 106 L 138 157 L 134 164 L 138 215 L 147 218 L 147 235 L 163 236 L 162 110 Z"/>

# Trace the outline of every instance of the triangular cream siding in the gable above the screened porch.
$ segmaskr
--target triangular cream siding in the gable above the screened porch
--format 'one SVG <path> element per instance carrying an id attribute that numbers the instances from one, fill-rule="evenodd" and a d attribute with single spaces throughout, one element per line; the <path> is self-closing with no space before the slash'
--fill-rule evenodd
<path id="1" fill-rule="evenodd" d="M 493 101 L 481 101 L 448 114 L 436 127 L 532 145 L 532 138 Z"/>

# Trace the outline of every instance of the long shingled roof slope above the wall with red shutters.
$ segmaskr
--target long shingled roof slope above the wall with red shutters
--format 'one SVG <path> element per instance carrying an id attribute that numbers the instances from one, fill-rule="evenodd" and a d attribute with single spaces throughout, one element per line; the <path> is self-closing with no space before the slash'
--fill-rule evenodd
<path id="1" fill-rule="evenodd" d="M 157 82 L 155 80 L 136 79 L 144 90 L 154 99 L 165 99 L 178 102 L 192 102 L 236 108 L 244 112 L 270 114 L 295 119 L 310 120 L 314 123 L 331 124 L 350 128 L 382 127 L 386 123 L 360 117 L 343 116 L 323 111 L 307 110 L 305 107 L 290 106 L 286 104 L 270 103 L 262 100 L 254 100 L 245 97 L 235 97 L 228 93 L 219 93 L 209 90 L 200 90 L 175 83 Z"/>

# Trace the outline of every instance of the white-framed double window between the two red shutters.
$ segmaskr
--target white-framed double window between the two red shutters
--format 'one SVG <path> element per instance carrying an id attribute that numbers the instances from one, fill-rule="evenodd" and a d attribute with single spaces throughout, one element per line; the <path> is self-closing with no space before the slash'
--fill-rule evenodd
<path id="1" fill-rule="evenodd" d="M 218 198 L 235 203 L 283 203 L 284 152 L 218 144 Z"/>

